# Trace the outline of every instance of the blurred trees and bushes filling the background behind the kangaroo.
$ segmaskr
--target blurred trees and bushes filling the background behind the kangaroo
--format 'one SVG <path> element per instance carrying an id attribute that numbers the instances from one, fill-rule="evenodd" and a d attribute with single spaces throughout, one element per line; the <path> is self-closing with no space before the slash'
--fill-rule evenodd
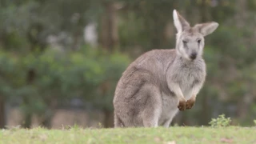
<path id="1" fill-rule="evenodd" d="M 113 126 L 114 89 L 126 66 L 175 45 L 172 11 L 206 37 L 205 86 L 173 123 L 256 118 L 255 0 L 0 0 L 0 128 Z"/>

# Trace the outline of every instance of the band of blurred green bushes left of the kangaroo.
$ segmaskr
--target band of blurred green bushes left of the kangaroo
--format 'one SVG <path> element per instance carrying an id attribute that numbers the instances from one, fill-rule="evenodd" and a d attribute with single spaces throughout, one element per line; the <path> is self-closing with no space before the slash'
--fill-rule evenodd
<path id="1" fill-rule="evenodd" d="M 46 50 L 26 57 L 2 51 L 0 93 L 9 100 L 28 98 L 29 102 L 22 105 L 28 114 L 42 114 L 51 102 L 61 103 L 70 98 L 82 98 L 98 109 L 112 110 L 115 85 L 129 63 L 124 54 L 103 54 L 90 47 L 71 53 Z M 32 85 L 26 80 L 29 70 L 36 74 Z"/>

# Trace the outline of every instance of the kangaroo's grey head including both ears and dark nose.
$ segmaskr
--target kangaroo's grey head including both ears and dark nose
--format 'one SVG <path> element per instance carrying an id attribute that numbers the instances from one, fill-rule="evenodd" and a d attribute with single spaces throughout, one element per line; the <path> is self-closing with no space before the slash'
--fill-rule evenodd
<path id="1" fill-rule="evenodd" d="M 178 55 L 187 60 L 193 61 L 202 56 L 205 45 L 204 37 L 217 29 L 217 22 L 197 24 L 193 27 L 185 18 L 174 10 L 174 26 L 178 30 L 176 35 L 176 51 Z"/>

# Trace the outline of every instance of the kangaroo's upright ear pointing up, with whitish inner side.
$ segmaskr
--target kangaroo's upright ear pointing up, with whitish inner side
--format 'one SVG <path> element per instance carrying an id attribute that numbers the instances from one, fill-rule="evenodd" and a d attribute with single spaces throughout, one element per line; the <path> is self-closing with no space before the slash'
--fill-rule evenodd
<path id="1" fill-rule="evenodd" d="M 186 22 L 186 19 L 182 17 L 182 15 L 178 14 L 177 10 L 173 12 L 174 17 L 174 26 L 178 30 L 178 33 L 182 33 L 182 31 L 190 28 L 190 23 Z"/>

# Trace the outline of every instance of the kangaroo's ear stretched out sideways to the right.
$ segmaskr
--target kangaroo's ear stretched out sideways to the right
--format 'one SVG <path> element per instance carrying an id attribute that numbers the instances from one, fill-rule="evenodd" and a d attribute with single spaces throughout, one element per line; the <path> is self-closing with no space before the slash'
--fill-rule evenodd
<path id="1" fill-rule="evenodd" d="M 203 36 L 206 36 L 208 34 L 211 34 L 216 30 L 218 27 L 217 22 L 207 22 L 207 23 L 201 23 L 194 26 L 198 30 L 199 33 L 201 33 Z"/>

